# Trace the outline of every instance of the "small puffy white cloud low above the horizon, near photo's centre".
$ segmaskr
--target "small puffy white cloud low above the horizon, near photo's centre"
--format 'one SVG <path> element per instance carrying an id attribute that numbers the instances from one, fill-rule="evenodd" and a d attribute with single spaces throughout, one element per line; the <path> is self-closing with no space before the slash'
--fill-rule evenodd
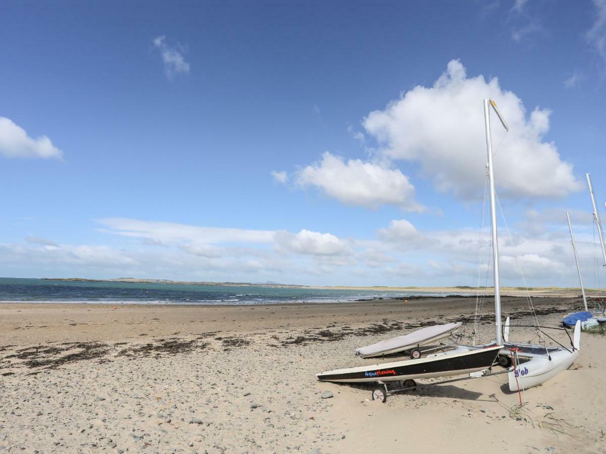
<path id="1" fill-rule="evenodd" d="M 276 243 L 280 248 L 287 249 L 297 254 L 308 255 L 348 255 L 351 248 L 335 235 L 330 233 L 312 232 L 301 230 L 298 234 L 292 234 L 285 230 L 276 232 Z"/>

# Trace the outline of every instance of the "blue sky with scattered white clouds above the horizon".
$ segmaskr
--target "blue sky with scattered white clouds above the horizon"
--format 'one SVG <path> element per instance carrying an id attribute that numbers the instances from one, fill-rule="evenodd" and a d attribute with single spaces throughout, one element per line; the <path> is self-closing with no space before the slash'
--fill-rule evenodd
<path id="1" fill-rule="evenodd" d="M 606 285 L 606 1 L 2 2 L 0 275 Z M 483 220 L 484 219 L 484 220 Z M 520 272 L 521 271 L 521 272 Z"/>

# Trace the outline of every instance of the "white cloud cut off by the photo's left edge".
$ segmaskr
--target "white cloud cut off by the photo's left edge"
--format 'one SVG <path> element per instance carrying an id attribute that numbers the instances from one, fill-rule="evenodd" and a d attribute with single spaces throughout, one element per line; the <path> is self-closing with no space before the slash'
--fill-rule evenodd
<path id="1" fill-rule="evenodd" d="M 0 154 L 6 157 L 42 157 L 61 159 L 63 152 L 48 139 L 32 139 L 25 130 L 6 117 L 0 117 Z"/>

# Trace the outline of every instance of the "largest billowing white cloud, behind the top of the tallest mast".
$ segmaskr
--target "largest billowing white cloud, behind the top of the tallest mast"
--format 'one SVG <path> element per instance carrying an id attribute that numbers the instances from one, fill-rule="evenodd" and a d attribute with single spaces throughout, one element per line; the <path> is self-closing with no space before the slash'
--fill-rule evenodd
<path id="1" fill-rule="evenodd" d="M 485 179 L 485 131 L 482 99 L 496 100 L 510 133 L 496 116 L 493 124 L 494 172 L 504 196 L 562 197 L 581 188 L 572 165 L 561 160 L 553 142 L 545 142 L 550 111 L 535 108 L 530 115 L 521 99 L 502 90 L 498 79 L 467 77 L 458 60 L 433 87 L 417 86 L 364 120 L 368 134 L 391 159 L 419 163 L 441 192 L 462 199 L 479 197 Z"/>

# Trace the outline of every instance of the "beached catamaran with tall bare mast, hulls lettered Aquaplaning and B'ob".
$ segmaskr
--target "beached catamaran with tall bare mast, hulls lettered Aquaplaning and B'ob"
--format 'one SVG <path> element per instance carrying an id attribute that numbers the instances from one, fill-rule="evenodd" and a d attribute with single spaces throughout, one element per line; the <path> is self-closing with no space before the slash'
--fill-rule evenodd
<path id="1" fill-rule="evenodd" d="M 501 116 L 496 104 L 491 99 L 484 99 L 484 122 L 486 128 L 486 145 L 488 154 L 488 180 L 490 184 L 490 213 L 493 245 L 493 274 L 494 274 L 494 325 L 495 341 L 484 346 L 455 345 L 453 349 L 427 355 L 424 358 L 393 361 L 391 363 L 371 364 L 359 367 L 328 370 L 316 374 L 320 381 L 341 383 L 409 381 L 415 383 L 416 378 L 453 377 L 490 369 L 497 363 L 498 357 L 511 356 L 514 364 L 508 369 L 510 390 L 517 390 L 519 382 L 524 378 L 522 386 L 528 388 L 544 383 L 558 373 L 562 367 L 570 367 L 578 356 L 579 324 L 575 326 L 576 342 L 570 350 L 559 348 L 549 351 L 543 346 L 530 344 L 504 345 L 501 321 L 501 286 L 499 283 L 499 247 L 496 218 L 496 192 L 494 190 L 493 153 L 490 131 L 490 108 L 494 110 L 501 124 L 508 131 L 507 123 Z M 507 332 L 508 334 L 508 332 Z M 542 350 L 540 350 L 542 349 Z M 522 351 L 520 351 L 522 350 Z M 567 355 L 566 352 L 570 355 Z M 557 355 L 556 355 L 557 354 Z M 522 358 L 522 359 L 520 359 Z M 545 360 L 548 362 L 546 363 Z M 570 364 L 568 364 L 568 361 Z M 524 368 L 518 369 L 518 363 L 524 362 Z M 516 388 L 513 387 L 516 383 Z M 387 389 L 385 389 L 387 391 Z M 374 398 L 374 397 L 373 397 Z M 384 401 L 384 399 L 382 399 Z"/>

